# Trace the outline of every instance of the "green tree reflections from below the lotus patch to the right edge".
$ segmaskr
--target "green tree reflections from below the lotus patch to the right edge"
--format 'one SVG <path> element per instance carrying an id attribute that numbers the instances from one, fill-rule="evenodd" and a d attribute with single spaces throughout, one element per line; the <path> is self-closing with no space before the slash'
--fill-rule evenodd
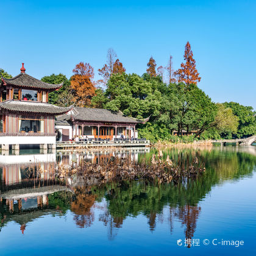
<path id="1" fill-rule="evenodd" d="M 123 221 L 127 216 L 137 216 L 142 213 L 147 216 L 149 229 L 153 231 L 163 216 L 163 208 L 169 205 L 171 232 L 173 219 L 178 218 L 185 226 L 186 238 L 191 238 L 201 212 L 198 206 L 199 201 L 210 192 L 214 185 L 222 183 L 222 180 L 251 176 L 256 165 L 254 155 L 231 149 L 230 151 L 227 149 L 227 152 L 222 152 L 218 148 L 199 149 L 198 151 L 171 149 L 169 152 L 165 151 L 164 157 L 170 155 L 170 158 L 175 161 L 179 160 L 180 154 L 188 154 L 191 155 L 191 160 L 197 157 L 199 161 L 204 162 L 206 167 L 204 176 L 177 184 L 172 182 L 170 184 L 148 184 L 134 181 L 105 185 L 101 191 L 96 188 L 96 193 L 101 194 L 107 200 L 110 216 L 104 221 L 112 223 L 116 217 Z M 186 165 L 186 163 L 182 164 Z M 105 190 L 105 193 L 102 193 L 102 190 Z"/>

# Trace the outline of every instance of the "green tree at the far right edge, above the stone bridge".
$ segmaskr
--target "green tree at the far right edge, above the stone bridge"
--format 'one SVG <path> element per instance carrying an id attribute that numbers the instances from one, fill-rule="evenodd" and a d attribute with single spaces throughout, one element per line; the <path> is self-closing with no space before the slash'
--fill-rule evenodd
<path id="1" fill-rule="evenodd" d="M 233 137 L 243 138 L 256 134 L 256 112 L 252 107 L 246 107 L 236 102 L 225 102 L 224 106 L 231 108 L 233 114 L 238 117 L 238 130 L 232 132 Z"/>

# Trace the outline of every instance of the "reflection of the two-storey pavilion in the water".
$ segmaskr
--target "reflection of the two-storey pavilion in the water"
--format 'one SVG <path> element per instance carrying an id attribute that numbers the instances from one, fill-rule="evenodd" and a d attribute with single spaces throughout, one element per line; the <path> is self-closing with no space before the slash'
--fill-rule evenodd
<path id="1" fill-rule="evenodd" d="M 2 225 L 16 221 L 23 233 L 27 222 L 57 212 L 50 209 L 48 196 L 67 188 L 56 182 L 54 165 L 55 154 L 0 155 Z"/>

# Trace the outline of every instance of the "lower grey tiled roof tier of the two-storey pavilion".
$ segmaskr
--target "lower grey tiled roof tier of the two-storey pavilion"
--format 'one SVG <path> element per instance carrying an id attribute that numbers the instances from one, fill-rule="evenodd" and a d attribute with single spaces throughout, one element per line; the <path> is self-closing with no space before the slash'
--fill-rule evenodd
<path id="1" fill-rule="evenodd" d="M 33 101 L 4 101 L 0 103 L 1 111 L 10 112 L 26 112 L 26 113 L 48 113 L 52 115 L 63 115 L 73 108 L 70 107 L 57 107 L 55 105 L 44 102 Z"/>

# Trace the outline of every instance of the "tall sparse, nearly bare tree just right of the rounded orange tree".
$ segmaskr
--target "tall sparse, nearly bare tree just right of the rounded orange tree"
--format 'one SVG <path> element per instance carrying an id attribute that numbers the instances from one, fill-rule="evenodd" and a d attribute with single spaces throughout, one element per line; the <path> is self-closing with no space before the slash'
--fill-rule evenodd
<path id="1" fill-rule="evenodd" d="M 98 69 L 99 75 L 102 77 L 101 80 L 98 80 L 99 84 L 103 84 L 103 85 L 107 84 L 108 79 L 113 74 L 113 66 L 114 66 L 114 63 L 116 62 L 116 57 L 117 57 L 116 52 L 112 48 L 109 48 L 107 51 L 107 64 L 105 64 L 102 69 Z"/>

